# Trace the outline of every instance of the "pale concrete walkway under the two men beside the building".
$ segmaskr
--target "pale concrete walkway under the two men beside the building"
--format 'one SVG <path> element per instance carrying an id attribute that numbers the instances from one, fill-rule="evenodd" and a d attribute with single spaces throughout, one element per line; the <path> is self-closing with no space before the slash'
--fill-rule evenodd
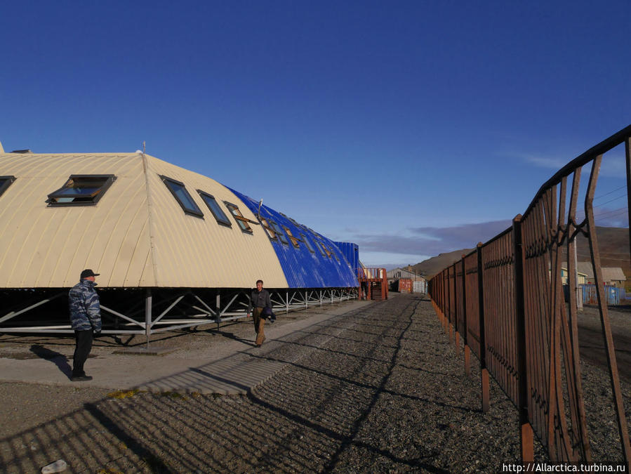
<path id="1" fill-rule="evenodd" d="M 26 346 L 11 347 L 10 351 L 0 353 L 0 381 L 152 392 L 247 393 L 284 367 L 284 363 L 260 357 L 274 339 L 370 304 L 371 301 L 349 301 L 326 311 L 310 310 L 312 314 L 295 322 L 267 325 L 267 341 L 262 348 L 212 334 L 208 334 L 207 348 L 183 352 L 180 349 L 177 353 L 159 344 L 154 349 L 150 345 L 149 351 L 145 349 L 143 357 L 121 353 L 120 348 L 99 348 L 93 350 L 96 357 L 86 362 L 86 371 L 94 376 L 86 382 L 70 381 L 72 348 L 68 346 L 64 354 L 44 348 L 48 355 L 41 355 L 41 351 L 33 355 L 33 349 Z M 142 353 L 140 348 L 136 350 Z M 29 357 L 20 357 L 20 352 Z"/>

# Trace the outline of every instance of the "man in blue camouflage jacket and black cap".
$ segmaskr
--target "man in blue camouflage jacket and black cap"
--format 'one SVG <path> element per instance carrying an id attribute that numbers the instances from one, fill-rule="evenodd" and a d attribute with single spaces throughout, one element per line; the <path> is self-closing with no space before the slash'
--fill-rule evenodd
<path id="1" fill-rule="evenodd" d="M 84 270 L 81 272 L 79 283 L 74 285 L 68 294 L 70 323 L 77 341 L 70 378 L 73 382 L 92 380 L 91 376 L 86 375 L 84 364 L 92 349 L 93 332 L 95 336 L 101 332 L 101 308 L 98 294 L 94 289 L 96 286 L 94 280 L 98 275 L 89 268 Z"/>

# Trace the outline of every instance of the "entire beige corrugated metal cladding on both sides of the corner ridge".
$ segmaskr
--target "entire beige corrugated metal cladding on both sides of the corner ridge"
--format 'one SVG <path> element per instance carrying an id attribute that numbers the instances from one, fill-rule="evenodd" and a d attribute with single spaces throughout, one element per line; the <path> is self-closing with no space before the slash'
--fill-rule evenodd
<path id="1" fill-rule="evenodd" d="M 48 207 L 48 194 L 71 174 L 117 180 L 94 206 Z M 182 181 L 204 218 L 186 215 L 159 174 Z M 206 176 L 142 153 L 5 153 L 0 176 L 16 177 L 0 197 L 2 288 L 72 287 L 84 268 L 101 274 L 100 287 L 247 288 L 258 278 L 287 286 L 263 229 L 248 235 L 234 221 L 215 221 L 195 190 L 215 196 L 226 213 L 222 200 L 255 217 Z"/>

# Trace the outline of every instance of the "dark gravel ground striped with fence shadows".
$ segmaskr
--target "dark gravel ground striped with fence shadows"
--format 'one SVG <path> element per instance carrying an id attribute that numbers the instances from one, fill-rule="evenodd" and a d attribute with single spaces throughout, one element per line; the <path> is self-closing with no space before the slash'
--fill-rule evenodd
<path id="1" fill-rule="evenodd" d="M 481 412 L 477 364 L 465 376 L 418 295 L 295 331 L 253 357 L 286 366 L 248 395 L 4 383 L 0 470 L 39 472 L 64 459 L 75 473 L 497 473 L 519 461 L 514 406 L 491 382 L 491 410 Z M 606 412 L 602 372 L 583 371 L 590 409 Z M 623 391 L 628 407 L 630 387 Z M 615 426 L 590 430 L 595 458 L 619 459 Z"/>

